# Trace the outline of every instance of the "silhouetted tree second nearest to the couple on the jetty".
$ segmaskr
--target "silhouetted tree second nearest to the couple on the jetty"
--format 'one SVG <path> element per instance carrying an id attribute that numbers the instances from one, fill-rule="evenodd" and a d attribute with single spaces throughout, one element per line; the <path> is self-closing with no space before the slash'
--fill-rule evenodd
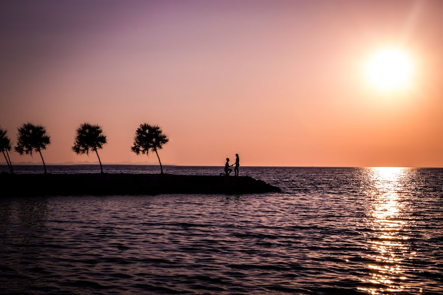
<path id="1" fill-rule="evenodd" d="M 77 154 L 87 154 L 95 152 L 97 154 L 98 163 L 100 163 L 100 170 L 103 173 L 100 157 L 97 149 L 103 148 L 106 144 L 106 135 L 103 134 L 103 129 L 99 125 L 92 125 L 90 123 L 83 123 L 76 130 L 74 146 L 72 150 Z"/>

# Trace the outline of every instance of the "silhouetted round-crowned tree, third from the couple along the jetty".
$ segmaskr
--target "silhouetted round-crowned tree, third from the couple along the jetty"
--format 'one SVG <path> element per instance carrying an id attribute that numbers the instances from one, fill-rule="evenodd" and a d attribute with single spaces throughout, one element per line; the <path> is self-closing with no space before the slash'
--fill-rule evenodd
<path id="1" fill-rule="evenodd" d="M 46 127 L 28 122 L 23 123 L 22 126 L 17 129 L 17 146 L 15 147 L 15 151 L 20 155 L 30 154 L 31 156 L 32 152 L 38 152 L 46 174 L 45 160 L 43 160 L 41 154 L 41 150 L 46 149 L 46 146 L 51 144 L 51 137 L 46 133 Z"/>

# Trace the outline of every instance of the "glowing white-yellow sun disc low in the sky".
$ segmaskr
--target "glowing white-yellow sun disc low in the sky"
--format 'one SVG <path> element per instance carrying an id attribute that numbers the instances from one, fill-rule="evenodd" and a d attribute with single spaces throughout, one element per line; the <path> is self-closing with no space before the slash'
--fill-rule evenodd
<path id="1" fill-rule="evenodd" d="M 383 48 L 367 61 L 366 75 L 369 82 L 381 90 L 402 90 L 411 85 L 413 61 L 400 48 Z"/>

